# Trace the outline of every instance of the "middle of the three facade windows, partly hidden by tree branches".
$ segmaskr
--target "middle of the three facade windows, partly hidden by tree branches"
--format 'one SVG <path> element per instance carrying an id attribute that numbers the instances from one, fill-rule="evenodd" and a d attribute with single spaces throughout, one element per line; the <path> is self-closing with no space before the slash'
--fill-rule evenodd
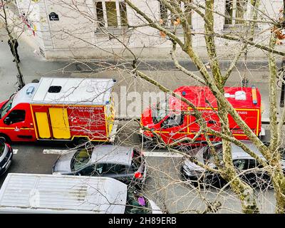
<path id="1" fill-rule="evenodd" d="M 187 6 L 187 4 L 182 1 L 180 6 L 182 9 L 182 14 L 184 14 L 188 24 L 192 26 L 192 9 L 190 9 L 190 6 Z M 172 14 L 172 12 L 167 9 L 167 6 L 160 2 L 160 24 L 162 24 L 162 26 L 175 26 L 175 21 L 177 22 L 178 18 L 179 15 Z"/>

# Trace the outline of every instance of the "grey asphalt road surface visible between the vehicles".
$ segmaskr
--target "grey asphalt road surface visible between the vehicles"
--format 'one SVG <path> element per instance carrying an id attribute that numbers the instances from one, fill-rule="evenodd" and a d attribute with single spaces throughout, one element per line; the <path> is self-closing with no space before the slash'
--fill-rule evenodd
<path id="1" fill-rule="evenodd" d="M 123 145 L 140 146 L 140 139 L 135 133 L 133 123 L 123 123 L 118 133 L 116 143 Z M 43 154 L 44 149 L 67 150 L 71 145 L 63 143 L 14 143 L 12 145 L 17 153 L 8 172 L 51 174 L 51 167 L 58 155 Z M 149 149 L 143 149 L 150 151 Z M 152 150 L 152 153 L 165 152 L 165 150 Z M 147 180 L 144 194 L 153 199 L 162 209 L 170 213 L 196 213 L 203 212 L 206 208 L 205 200 L 219 200 L 222 208 L 219 213 L 240 213 L 239 200 L 229 189 L 220 192 L 211 188 L 197 190 L 192 185 L 182 181 L 180 177 L 181 157 L 147 157 Z M 6 173 L 6 174 L 7 174 Z M 6 174 L 0 177 L 0 186 L 4 182 Z M 274 195 L 272 190 L 257 192 L 261 212 L 274 212 Z"/>

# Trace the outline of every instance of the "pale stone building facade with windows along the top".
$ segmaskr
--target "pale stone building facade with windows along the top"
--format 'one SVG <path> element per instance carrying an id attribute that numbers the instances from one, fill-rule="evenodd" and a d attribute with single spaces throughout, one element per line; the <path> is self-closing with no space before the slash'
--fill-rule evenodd
<path id="1" fill-rule="evenodd" d="M 159 31 L 144 26 L 145 21 L 124 0 L 15 0 L 21 19 L 26 24 L 26 38 L 47 59 L 62 58 L 118 58 L 130 57 L 125 46 L 140 58 L 165 58 L 171 43 Z M 203 4 L 202 0 L 194 0 Z M 217 33 L 242 33 L 247 30 L 244 21 L 249 18 L 248 0 L 216 0 L 214 30 Z M 174 28 L 175 15 L 157 0 L 132 0 L 135 6 L 151 19 L 168 28 Z M 278 19 L 283 0 L 261 0 L 259 20 Z M 192 44 L 202 57 L 207 56 L 204 42 L 204 20 L 182 3 L 191 25 Z M 223 15 L 227 15 L 224 17 Z M 255 41 L 268 44 L 271 24 L 256 26 Z M 183 38 L 182 28 L 176 26 L 177 36 Z M 118 41 L 119 40 L 119 41 Z M 237 43 L 222 38 L 216 40 L 221 58 L 229 59 Z M 280 46 L 279 48 L 283 48 Z M 180 58 L 186 58 L 180 51 Z M 257 48 L 249 49 L 249 56 L 263 58 Z"/>

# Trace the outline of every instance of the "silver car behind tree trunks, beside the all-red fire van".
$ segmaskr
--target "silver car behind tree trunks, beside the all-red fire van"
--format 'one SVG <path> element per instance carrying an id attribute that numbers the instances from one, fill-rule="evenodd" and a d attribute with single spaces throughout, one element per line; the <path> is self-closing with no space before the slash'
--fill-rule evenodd
<path id="1" fill-rule="evenodd" d="M 249 149 L 253 150 L 257 155 L 259 155 L 261 159 L 265 160 L 264 156 L 261 155 L 261 152 L 259 152 L 257 147 L 252 142 L 242 142 L 244 142 Z M 217 151 L 219 160 L 222 161 L 222 142 L 217 142 L 214 144 L 214 147 Z M 207 164 L 209 167 L 214 169 L 217 168 L 216 165 L 214 165 L 214 155 L 212 155 L 209 146 L 199 148 L 197 152 L 195 152 L 195 157 L 199 162 L 202 162 L 202 164 Z M 266 172 L 264 172 L 264 170 L 249 170 L 253 169 L 254 167 L 261 167 L 261 165 L 258 164 L 257 160 L 248 155 L 247 152 L 244 152 L 241 147 L 234 145 L 234 143 L 232 143 L 232 161 L 237 169 L 237 172 L 242 172 L 240 174 L 242 180 L 249 183 L 249 185 L 252 185 L 252 187 L 268 187 L 270 177 L 266 174 Z M 283 156 L 281 164 L 285 172 L 285 158 Z M 249 171 L 244 172 L 245 170 Z M 190 160 L 187 158 L 182 161 L 181 174 L 183 179 L 191 180 L 195 184 L 197 184 L 198 181 L 204 185 L 214 186 L 222 186 L 226 183 L 226 181 L 223 180 L 222 177 L 217 173 L 204 170 L 204 168 L 190 162 Z"/>

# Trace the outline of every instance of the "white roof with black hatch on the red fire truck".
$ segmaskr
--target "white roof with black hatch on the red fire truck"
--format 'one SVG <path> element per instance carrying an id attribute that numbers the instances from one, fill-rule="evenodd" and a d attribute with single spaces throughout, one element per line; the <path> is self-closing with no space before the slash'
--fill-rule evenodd
<path id="1" fill-rule="evenodd" d="M 110 78 L 41 78 L 31 103 L 106 105 L 114 83 Z M 58 93 L 49 93 L 51 86 L 61 89 Z"/>

